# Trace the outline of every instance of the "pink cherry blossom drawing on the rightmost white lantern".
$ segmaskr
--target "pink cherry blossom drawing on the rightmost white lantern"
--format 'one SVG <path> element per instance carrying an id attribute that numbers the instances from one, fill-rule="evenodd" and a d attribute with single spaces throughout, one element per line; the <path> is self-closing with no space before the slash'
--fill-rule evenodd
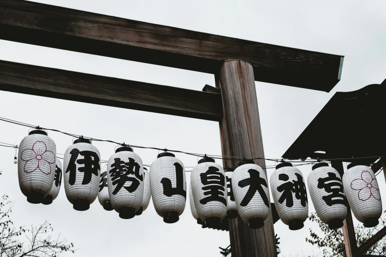
<path id="1" fill-rule="evenodd" d="M 371 196 L 373 196 L 375 199 L 380 201 L 381 198 L 374 195 L 376 190 L 379 191 L 379 188 L 377 185 L 378 183 L 376 182 L 377 181 L 373 178 L 373 176 L 369 171 L 363 170 L 362 174 L 360 175 L 360 179 L 354 179 L 351 182 L 351 188 L 353 190 L 359 190 L 358 192 L 359 200 L 366 201 L 370 199 Z"/>

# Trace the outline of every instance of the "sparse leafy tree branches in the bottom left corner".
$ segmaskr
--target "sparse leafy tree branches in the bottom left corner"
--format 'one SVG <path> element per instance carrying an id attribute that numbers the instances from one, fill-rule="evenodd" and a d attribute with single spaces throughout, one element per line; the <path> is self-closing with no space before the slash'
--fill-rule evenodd
<path id="1" fill-rule="evenodd" d="M 12 212 L 11 201 L 7 195 L 0 202 L 0 257 L 58 257 L 60 253 L 74 253 L 73 244 L 61 239 L 60 235 L 52 238 L 54 229 L 48 221 L 39 226 L 15 227 L 9 218 Z"/>

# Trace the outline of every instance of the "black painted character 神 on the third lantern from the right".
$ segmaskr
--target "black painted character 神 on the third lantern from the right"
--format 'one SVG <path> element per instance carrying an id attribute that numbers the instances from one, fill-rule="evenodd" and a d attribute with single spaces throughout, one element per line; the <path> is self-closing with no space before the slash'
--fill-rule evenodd
<path id="1" fill-rule="evenodd" d="M 289 177 L 287 174 L 279 174 L 279 179 L 281 181 L 288 181 L 281 184 L 277 190 L 283 192 L 279 198 L 279 202 L 283 203 L 285 200 L 285 205 L 287 207 L 293 206 L 293 196 L 292 193 L 295 193 L 296 199 L 300 200 L 300 204 L 305 207 L 308 202 L 306 185 L 303 182 L 303 177 L 299 173 L 295 173 L 297 180 L 288 181 Z"/>

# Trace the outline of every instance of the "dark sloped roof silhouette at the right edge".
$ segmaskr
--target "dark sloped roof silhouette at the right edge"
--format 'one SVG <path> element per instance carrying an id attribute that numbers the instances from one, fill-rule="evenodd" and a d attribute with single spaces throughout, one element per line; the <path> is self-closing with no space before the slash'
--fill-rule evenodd
<path id="1" fill-rule="evenodd" d="M 386 154 L 386 80 L 337 92 L 282 156 L 343 159 Z M 316 151 L 326 154 L 318 155 Z M 368 159 L 372 163 L 375 159 Z"/>

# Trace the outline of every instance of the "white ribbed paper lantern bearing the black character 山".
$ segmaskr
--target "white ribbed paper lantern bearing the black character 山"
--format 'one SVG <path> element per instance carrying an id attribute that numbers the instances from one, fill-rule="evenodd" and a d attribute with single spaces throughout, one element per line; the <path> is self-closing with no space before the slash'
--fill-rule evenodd
<path id="1" fill-rule="evenodd" d="M 161 153 L 150 166 L 151 196 L 165 223 L 175 223 L 185 209 L 185 168 L 172 153 Z"/>

